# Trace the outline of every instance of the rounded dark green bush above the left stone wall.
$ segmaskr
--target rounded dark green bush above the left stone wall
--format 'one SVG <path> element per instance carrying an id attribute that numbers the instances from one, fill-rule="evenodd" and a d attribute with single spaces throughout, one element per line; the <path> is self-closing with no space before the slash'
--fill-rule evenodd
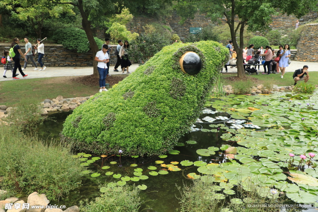
<path id="1" fill-rule="evenodd" d="M 58 44 L 62 44 L 67 49 L 76 49 L 78 53 L 86 53 L 89 51 L 89 43 L 84 30 L 79 28 L 63 28 L 54 32 L 52 39 Z M 94 40 L 101 46 L 99 38 Z"/>

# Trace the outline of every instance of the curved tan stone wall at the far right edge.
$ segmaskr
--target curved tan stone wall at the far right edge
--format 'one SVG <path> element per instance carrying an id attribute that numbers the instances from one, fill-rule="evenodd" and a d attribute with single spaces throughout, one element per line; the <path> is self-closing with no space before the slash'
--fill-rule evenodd
<path id="1" fill-rule="evenodd" d="M 301 32 L 297 43 L 298 52 L 294 60 L 318 62 L 318 24 L 308 24 Z"/>

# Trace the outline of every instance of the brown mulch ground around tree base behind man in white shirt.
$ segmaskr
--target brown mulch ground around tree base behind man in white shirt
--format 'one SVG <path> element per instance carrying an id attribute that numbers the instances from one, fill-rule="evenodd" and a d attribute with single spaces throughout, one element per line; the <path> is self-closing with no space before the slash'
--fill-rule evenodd
<path id="1" fill-rule="evenodd" d="M 122 76 L 122 75 L 112 75 L 108 76 L 106 78 L 106 83 L 109 84 L 109 86 L 113 86 L 117 84 L 119 81 L 123 80 L 127 75 Z M 99 79 L 95 77 L 93 74 L 84 76 L 84 77 L 74 77 L 70 79 L 73 82 L 77 82 L 83 85 L 91 86 L 91 87 L 98 87 L 99 86 Z"/>

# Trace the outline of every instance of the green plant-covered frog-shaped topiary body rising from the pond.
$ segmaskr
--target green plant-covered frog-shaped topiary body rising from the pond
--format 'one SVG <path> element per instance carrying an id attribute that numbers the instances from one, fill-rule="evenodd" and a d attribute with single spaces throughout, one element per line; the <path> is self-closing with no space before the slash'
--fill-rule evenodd
<path id="1" fill-rule="evenodd" d="M 176 69 L 173 58 L 176 52 L 182 55 L 180 49 L 204 55 L 197 75 Z M 62 141 L 93 154 L 118 154 L 121 149 L 124 155 L 158 155 L 172 150 L 195 123 L 228 57 L 228 49 L 214 41 L 165 46 L 112 89 L 77 107 L 64 123 Z M 184 90 L 176 93 L 180 91 L 174 87 Z"/>

